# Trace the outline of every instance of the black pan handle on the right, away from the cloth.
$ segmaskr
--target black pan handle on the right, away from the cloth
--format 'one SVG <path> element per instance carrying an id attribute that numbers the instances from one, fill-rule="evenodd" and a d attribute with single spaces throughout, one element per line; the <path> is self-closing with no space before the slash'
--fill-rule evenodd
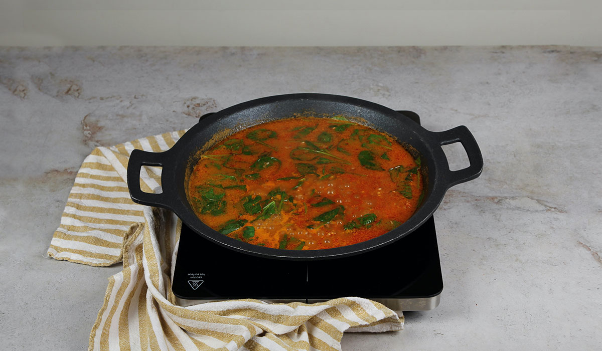
<path id="1" fill-rule="evenodd" d="M 474 140 L 473 134 L 466 126 L 457 126 L 447 131 L 435 132 L 435 138 L 441 146 L 457 143 L 458 141 L 462 143 L 470 162 L 470 166 L 465 169 L 447 170 L 446 180 L 448 187 L 471 181 L 481 174 L 483 171 L 483 156 L 481 155 L 477 141 Z"/>

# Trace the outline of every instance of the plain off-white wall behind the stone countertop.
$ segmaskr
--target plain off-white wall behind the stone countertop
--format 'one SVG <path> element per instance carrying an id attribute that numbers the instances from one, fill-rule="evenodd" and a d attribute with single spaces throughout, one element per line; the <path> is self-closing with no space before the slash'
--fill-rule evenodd
<path id="1" fill-rule="evenodd" d="M 0 45 L 602 46 L 602 1 L 0 0 Z"/>

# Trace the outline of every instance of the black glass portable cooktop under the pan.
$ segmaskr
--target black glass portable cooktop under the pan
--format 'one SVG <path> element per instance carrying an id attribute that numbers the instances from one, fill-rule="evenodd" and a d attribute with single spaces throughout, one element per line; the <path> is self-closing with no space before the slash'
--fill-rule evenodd
<path id="1" fill-rule="evenodd" d="M 420 119 L 409 111 L 405 116 Z M 172 282 L 184 300 L 261 299 L 315 302 L 366 297 L 396 310 L 435 308 L 443 289 L 435 221 L 359 255 L 287 261 L 235 252 L 182 225 Z"/>

